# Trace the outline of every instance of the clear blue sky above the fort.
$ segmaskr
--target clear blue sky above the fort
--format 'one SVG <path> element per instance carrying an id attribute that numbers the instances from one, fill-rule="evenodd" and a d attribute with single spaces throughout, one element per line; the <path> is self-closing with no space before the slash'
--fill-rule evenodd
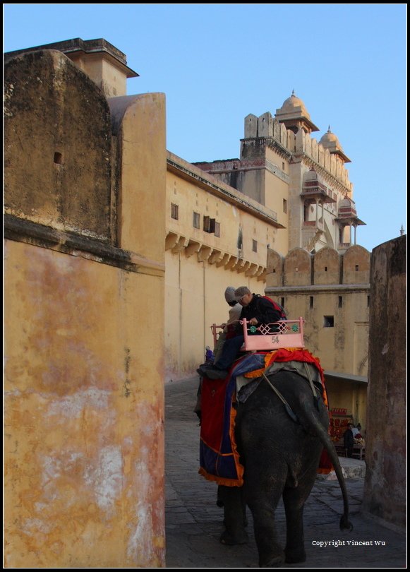
<path id="1" fill-rule="evenodd" d="M 103 37 L 167 96 L 167 149 L 239 157 L 243 119 L 292 90 L 351 159 L 357 242 L 406 231 L 406 4 L 3 4 L 4 52 Z"/>

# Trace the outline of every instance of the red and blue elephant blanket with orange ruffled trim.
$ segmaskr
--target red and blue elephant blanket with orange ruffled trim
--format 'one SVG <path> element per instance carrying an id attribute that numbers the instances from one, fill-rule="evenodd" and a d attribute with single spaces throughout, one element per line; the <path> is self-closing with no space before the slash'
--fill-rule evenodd
<path id="1" fill-rule="evenodd" d="M 308 370 L 306 365 L 308 365 Z M 292 369 L 313 377 L 322 386 L 327 405 L 324 375 L 320 362 L 308 350 L 281 349 L 274 352 L 254 352 L 236 360 L 225 379 L 203 378 L 202 420 L 200 430 L 200 475 L 228 487 L 241 487 L 243 466 L 239 463 L 234 437 L 236 417 L 236 381 L 241 376 L 258 378 L 274 369 Z M 253 384 L 255 387 L 255 384 Z M 241 392 L 242 393 L 242 392 Z M 246 394 L 246 392 L 245 392 Z M 325 455 L 320 472 L 329 472 L 332 465 Z"/>

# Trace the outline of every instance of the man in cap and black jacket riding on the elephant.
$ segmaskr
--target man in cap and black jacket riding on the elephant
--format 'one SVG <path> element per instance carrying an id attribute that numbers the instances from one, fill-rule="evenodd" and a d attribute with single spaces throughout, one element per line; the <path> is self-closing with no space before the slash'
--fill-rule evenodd
<path id="1" fill-rule="evenodd" d="M 240 319 L 246 318 L 251 326 L 260 326 L 260 324 L 277 322 L 283 319 L 282 311 L 277 309 L 270 300 L 259 294 L 253 294 L 246 286 L 241 286 L 235 290 L 235 299 L 242 306 Z M 242 344 L 243 329 L 239 323 L 239 326 L 236 328 L 236 335 L 234 338 L 225 341 L 222 354 L 213 366 L 200 366 L 197 370 L 198 373 L 209 379 L 224 379 L 228 375 L 228 370 L 234 363 Z"/>

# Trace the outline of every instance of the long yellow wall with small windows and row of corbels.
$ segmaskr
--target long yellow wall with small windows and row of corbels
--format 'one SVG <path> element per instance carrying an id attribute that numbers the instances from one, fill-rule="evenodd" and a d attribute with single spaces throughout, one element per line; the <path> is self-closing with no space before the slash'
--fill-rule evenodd
<path id="1" fill-rule="evenodd" d="M 168 168 L 165 252 L 165 371 L 166 381 L 195 374 L 203 363 L 205 347 L 213 347 L 212 323 L 227 321 L 229 306 L 224 299 L 227 286 L 246 285 L 263 294 L 267 244 L 274 242 L 277 228 L 271 211 L 229 187 L 233 201 L 221 196 L 223 185 L 200 172 L 180 157 L 169 159 L 181 167 Z M 186 173 L 187 169 L 191 176 Z M 205 182 L 204 182 L 205 181 Z M 171 204 L 178 206 L 178 219 L 171 218 Z M 257 208 L 258 217 L 246 208 Z M 200 215 L 200 228 L 193 227 L 193 212 Z M 220 236 L 205 232 L 203 218 L 215 218 Z M 238 248 L 239 234 L 242 249 Z M 253 241 L 257 251 L 253 251 Z"/>

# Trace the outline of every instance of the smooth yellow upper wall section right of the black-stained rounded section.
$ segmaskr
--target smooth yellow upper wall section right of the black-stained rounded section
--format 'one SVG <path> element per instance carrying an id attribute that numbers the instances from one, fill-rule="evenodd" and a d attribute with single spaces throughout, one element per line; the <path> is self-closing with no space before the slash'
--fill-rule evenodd
<path id="1" fill-rule="evenodd" d="M 115 102 L 111 98 L 109 102 Z M 119 246 L 139 256 L 164 261 L 165 97 L 129 96 L 121 123 Z"/>

